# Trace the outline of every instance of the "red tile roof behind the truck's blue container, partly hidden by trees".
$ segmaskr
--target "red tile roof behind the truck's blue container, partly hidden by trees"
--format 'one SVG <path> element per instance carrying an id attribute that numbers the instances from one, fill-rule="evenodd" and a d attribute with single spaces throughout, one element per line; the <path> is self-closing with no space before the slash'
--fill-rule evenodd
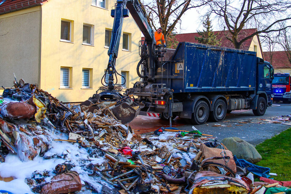
<path id="1" fill-rule="evenodd" d="M 245 37 L 253 34 L 256 32 L 256 28 L 250 28 L 250 29 L 242 29 L 241 32 L 238 35 L 238 40 L 242 40 Z M 224 34 L 223 31 L 213 31 L 215 35 L 217 35 L 217 39 L 221 39 L 219 43 L 221 43 L 221 47 L 228 47 L 228 48 L 234 48 L 233 43 L 226 39 L 226 36 L 231 38 L 231 35 L 228 31 L 226 31 L 226 35 Z M 186 33 L 186 34 L 177 34 L 175 38 L 177 39 L 178 42 L 190 42 L 190 43 L 199 43 L 197 40 L 195 40 L 195 36 L 200 37 L 198 32 L 195 33 Z M 244 41 L 241 44 L 241 49 L 242 50 L 249 50 L 249 47 L 252 43 L 252 39 L 248 39 Z"/>

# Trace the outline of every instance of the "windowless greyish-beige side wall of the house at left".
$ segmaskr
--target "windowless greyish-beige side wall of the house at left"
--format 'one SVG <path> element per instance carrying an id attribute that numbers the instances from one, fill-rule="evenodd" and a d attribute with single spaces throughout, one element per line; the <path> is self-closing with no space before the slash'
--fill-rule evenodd
<path id="1" fill-rule="evenodd" d="M 40 22 L 40 6 L 0 15 L 0 86 L 39 83 Z"/>

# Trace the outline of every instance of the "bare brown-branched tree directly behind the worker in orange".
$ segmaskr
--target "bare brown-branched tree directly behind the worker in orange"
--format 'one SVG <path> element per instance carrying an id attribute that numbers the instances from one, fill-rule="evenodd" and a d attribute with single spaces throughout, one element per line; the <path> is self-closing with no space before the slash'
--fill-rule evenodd
<path id="1" fill-rule="evenodd" d="M 147 21 L 152 28 L 157 30 L 162 27 L 165 39 L 177 23 L 181 22 L 182 15 L 189 9 L 206 5 L 212 0 L 156 0 L 144 4 Z"/>

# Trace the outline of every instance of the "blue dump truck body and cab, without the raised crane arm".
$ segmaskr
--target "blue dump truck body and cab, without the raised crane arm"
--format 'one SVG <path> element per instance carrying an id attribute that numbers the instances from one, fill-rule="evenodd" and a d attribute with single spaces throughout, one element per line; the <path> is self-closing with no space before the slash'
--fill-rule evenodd
<path id="1" fill-rule="evenodd" d="M 256 52 L 181 42 L 169 61 L 159 62 L 151 80 L 142 76 L 127 90 L 137 96 L 142 115 L 200 125 L 222 121 L 232 110 L 260 116 L 272 104 L 274 69 Z"/>

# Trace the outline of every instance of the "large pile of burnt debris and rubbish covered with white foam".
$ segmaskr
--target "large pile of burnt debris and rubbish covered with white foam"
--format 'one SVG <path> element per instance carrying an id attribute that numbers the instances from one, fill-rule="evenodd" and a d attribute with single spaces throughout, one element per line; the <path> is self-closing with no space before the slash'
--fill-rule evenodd
<path id="1" fill-rule="evenodd" d="M 71 106 L 23 80 L 14 87 L 0 101 L 0 175 L 14 172 L 29 191 L 15 185 L 13 193 L 255 193 L 269 185 L 270 169 L 237 159 L 195 127 L 135 135 L 113 103 Z M 19 172 L 15 163 L 33 170 Z"/>

